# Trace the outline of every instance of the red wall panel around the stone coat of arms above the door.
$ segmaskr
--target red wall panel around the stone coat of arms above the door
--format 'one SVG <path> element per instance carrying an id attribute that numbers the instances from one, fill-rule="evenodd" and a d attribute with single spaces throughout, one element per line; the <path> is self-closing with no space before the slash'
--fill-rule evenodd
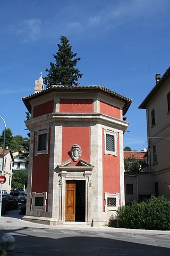
<path id="1" fill-rule="evenodd" d="M 63 126 L 62 135 L 62 162 L 70 159 L 70 149 L 74 144 L 81 147 L 81 159 L 90 163 L 90 127 Z M 71 165 L 80 165 L 80 159 Z"/>

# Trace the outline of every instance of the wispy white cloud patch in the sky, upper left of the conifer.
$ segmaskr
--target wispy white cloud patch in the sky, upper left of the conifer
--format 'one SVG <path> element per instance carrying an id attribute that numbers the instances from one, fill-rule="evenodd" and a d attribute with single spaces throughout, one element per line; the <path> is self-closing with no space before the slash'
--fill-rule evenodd
<path id="1" fill-rule="evenodd" d="M 41 33 L 41 20 L 37 18 L 28 19 L 18 26 L 11 26 L 10 30 L 22 37 L 23 42 L 37 41 Z"/>

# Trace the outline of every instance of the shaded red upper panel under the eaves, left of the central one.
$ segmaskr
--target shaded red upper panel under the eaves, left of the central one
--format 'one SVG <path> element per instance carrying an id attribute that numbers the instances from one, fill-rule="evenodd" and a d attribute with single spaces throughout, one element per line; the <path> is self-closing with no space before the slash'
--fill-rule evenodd
<path id="1" fill-rule="evenodd" d="M 33 108 L 33 117 L 53 113 L 54 100 L 47 101 Z"/>

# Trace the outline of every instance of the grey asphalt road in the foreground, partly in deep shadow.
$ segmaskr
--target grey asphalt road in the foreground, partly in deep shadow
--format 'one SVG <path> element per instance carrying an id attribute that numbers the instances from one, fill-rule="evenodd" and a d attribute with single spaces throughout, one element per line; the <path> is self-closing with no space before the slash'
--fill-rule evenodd
<path id="1" fill-rule="evenodd" d="M 170 255 L 169 235 L 62 230 L 62 227 L 5 227 L 0 230 L 0 237 L 5 234 L 15 238 L 15 250 L 8 252 L 8 256 Z"/>

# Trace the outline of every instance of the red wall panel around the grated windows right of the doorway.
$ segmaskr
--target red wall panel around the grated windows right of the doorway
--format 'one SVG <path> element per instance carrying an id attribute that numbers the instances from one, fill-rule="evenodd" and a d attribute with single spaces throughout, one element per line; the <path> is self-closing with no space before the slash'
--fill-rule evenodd
<path id="1" fill-rule="evenodd" d="M 117 156 L 105 155 L 104 143 L 103 134 L 103 211 L 105 205 L 104 193 L 120 193 L 119 134 L 117 136 Z"/>

